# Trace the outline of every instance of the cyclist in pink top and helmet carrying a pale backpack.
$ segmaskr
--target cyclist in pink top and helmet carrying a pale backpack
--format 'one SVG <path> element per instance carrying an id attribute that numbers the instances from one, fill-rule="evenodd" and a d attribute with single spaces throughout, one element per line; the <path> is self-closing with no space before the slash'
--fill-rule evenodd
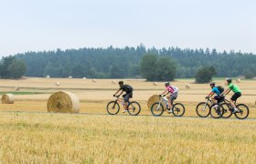
<path id="1" fill-rule="evenodd" d="M 167 96 L 167 99 L 169 100 L 168 101 L 168 107 L 167 107 L 168 111 L 167 112 L 171 113 L 172 108 L 173 108 L 174 100 L 177 97 L 178 88 L 175 87 L 175 86 L 171 86 L 169 82 L 165 82 L 165 87 L 166 87 L 166 89 L 161 95 L 163 95 L 165 97 L 167 94 L 171 93 L 170 96 Z M 166 95 L 165 95 L 165 93 L 166 93 Z M 159 95 L 159 96 L 161 97 L 161 95 Z"/>

